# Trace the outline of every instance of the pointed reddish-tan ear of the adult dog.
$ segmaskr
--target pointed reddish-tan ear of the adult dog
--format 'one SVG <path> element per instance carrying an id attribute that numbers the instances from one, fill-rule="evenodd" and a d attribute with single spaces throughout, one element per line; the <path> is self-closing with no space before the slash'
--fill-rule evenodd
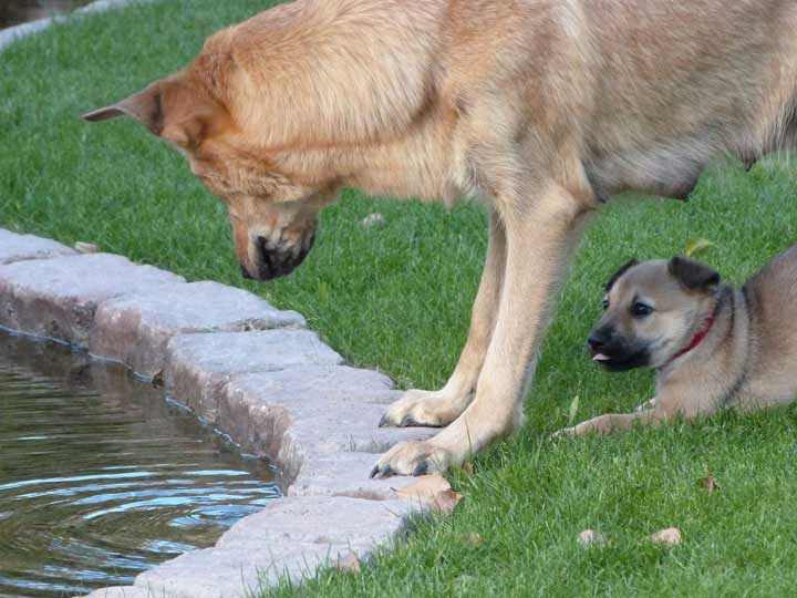
<path id="1" fill-rule="evenodd" d="M 229 122 L 217 102 L 175 79 L 157 81 L 116 104 L 83 115 L 90 122 L 131 116 L 154 135 L 185 148 L 199 145 L 211 130 Z"/>

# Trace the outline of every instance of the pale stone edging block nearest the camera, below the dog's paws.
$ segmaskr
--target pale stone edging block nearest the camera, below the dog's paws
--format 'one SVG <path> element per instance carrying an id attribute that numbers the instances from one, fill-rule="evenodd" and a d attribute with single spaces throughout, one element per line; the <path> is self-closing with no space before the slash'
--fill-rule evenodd
<path id="1" fill-rule="evenodd" d="M 364 559 L 376 546 L 400 538 L 411 514 L 402 501 L 275 501 L 235 524 L 215 548 L 145 571 L 135 587 L 174 598 L 244 598 L 286 577 L 299 584 L 340 555 Z"/>

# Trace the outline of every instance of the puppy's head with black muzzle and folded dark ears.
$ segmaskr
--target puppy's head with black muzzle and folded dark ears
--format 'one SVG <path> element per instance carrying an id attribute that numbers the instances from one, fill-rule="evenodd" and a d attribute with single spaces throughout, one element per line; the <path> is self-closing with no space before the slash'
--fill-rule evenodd
<path id="1" fill-rule="evenodd" d="M 593 361 L 612 371 L 664 365 L 702 326 L 718 285 L 715 270 L 691 259 L 630 260 L 605 286 L 587 341 Z"/>

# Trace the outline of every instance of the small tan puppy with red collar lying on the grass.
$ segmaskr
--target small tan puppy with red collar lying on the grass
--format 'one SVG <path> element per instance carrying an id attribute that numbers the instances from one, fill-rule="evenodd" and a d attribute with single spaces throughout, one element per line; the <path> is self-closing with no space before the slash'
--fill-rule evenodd
<path id="1" fill-rule="evenodd" d="M 690 259 L 632 259 L 607 283 L 603 307 L 587 342 L 593 361 L 611 371 L 655 369 L 655 398 L 635 413 L 600 415 L 560 434 L 609 433 L 797 396 L 797 246 L 741 289 Z"/>

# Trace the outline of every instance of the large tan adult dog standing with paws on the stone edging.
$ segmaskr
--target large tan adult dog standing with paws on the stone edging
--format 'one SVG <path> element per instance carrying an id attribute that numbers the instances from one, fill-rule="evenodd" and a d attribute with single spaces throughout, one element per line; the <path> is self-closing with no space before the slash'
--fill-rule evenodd
<path id="1" fill-rule="evenodd" d="M 208 39 L 123 114 L 228 205 L 245 275 L 290 272 L 343 186 L 482 198 L 489 246 L 446 385 L 384 425 L 447 427 L 375 474 L 462 463 L 516 429 L 589 215 L 684 197 L 713 156 L 797 138 L 796 0 L 303 0 Z"/>

